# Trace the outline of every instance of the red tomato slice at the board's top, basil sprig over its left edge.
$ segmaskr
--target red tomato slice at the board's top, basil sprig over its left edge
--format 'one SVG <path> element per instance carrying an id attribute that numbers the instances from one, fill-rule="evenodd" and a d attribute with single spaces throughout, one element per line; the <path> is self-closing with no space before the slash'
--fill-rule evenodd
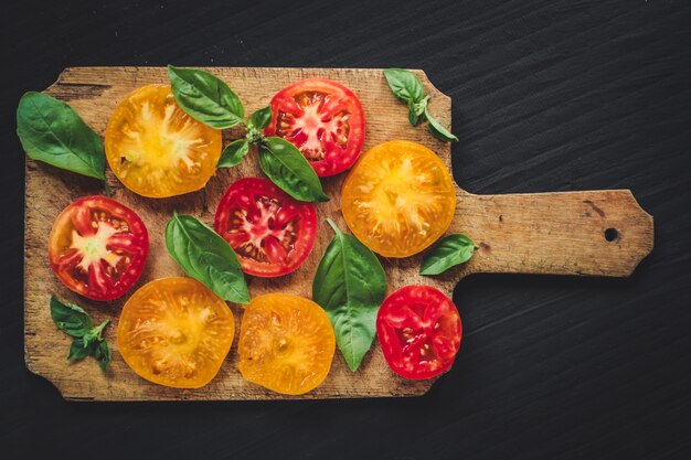
<path id="1" fill-rule="evenodd" d="M 308 78 L 272 99 L 272 122 L 264 130 L 293 142 L 317 175 L 352 167 L 364 142 L 364 115 L 358 96 L 338 82 Z"/>

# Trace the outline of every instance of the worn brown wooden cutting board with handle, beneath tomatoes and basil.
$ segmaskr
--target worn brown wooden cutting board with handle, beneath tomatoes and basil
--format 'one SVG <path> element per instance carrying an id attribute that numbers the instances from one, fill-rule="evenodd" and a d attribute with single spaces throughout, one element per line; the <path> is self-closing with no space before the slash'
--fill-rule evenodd
<path id="1" fill-rule="evenodd" d="M 325 77 L 350 87 L 361 99 L 366 118 L 364 149 L 393 139 L 427 146 L 451 168 L 450 146 L 434 139 L 423 127 L 408 125 L 406 106 L 390 92 L 382 69 L 355 68 L 208 68 L 237 93 L 247 113 L 265 107 L 284 86 L 306 77 Z M 450 126 L 451 100 L 415 71 L 430 94 L 429 111 Z M 70 103 L 100 135 L 116 105 L 132 89 L 149 83 L 168 83 L 162 67 L 74 67 L 65 69 L 45 93 Z M 238 129 L 224 131 L 224 141 L 241 136 Z M 460 159 L 455 159 L 460 161 Z M 199 216 L 212 224 L 216 205 L 230 183 L 262 175 L 256 156 L 231 170 L 220 170 L 206 188 L 188 195 L 155 200 L 138 196 L 107 171 L 114 197 L 134 208 L 150 236 L 150 250 L 141 279 L 132 289 L 162 277 L 184 276 L 166 252 L 163 228 L 173 210 Z M 346 174 L 322 181 L 329 203 L 317 205 L 319 221 L 334 220 L 347 228 L 340 213 L 340 189 Z M 340 352 L 321 386 L 298 397 L 269 392 L 242 378 L 236 368 L 235 343 L 219 375 L 199 389 L 176 389 L 139 378 L 123 361 L 115 331 L 120 309 L 128 296 L 111 302 L 81 298 L 54 277 L 47 264 L 47 237 L 55 217 L 72 201 L 103 192 L 97 181 L 26 160 L 24 233 L 24 356 L 26 367 L 52 382 L 67 399 L 76 400 L 163 400 L 163 399 L 277 399 L 416 396 L 426 393 L 434 381 L 405 381 L 392 373 L 374 341 L 357 373 L 350 372 Z M 389 292 L 411 284 L 439 288 L 449 297 L 457 281 L 476 272 L 522 272 L 625 277 L 652 249 L 652 217 L 640 208 L 627 190 L 475 195 L 457 189 L 457 208 L 449 233 L 463 232 L 479 246 L 465 266 L 429 278 L 417 274 L 423 255 L 407 259 L 384 259 Z M 262 279 L 248 277 L 252 296 L 290 292 L 311 297 L 311 280 L 332 231 L 321 224 L 311 256 L 294 274 Z M 96 322 L 109 318 L 106 330 L 114 349 L 106 375 L 95 360 L 70 364 L 65 360 L 70 338 L 60 332 L 50 317 L 49 299 L 82 304 Z M 460 307 L 463 315 L 463 306 Z M 242 308 L 231 307 L 237 327 Z M 238 328 L 236 329 L 238 330 Z M 236 334 L 237 335 L 237 334 Z M 463 353 L 463 344 L 460 353 Z"/>

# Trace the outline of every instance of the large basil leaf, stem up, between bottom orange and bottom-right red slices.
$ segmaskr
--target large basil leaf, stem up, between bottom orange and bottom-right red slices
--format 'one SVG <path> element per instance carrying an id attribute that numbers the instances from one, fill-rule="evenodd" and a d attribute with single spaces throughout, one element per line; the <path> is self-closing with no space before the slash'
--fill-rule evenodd
<path id="1" fill-rule="evenodd" d="M 336 343 L 352 372 L 372 346 L 376 312 L 386 296 L 386 274 L 379 259 L 353 236 L 327 220 L 336 235 L 317 267 L 312 299 L 336 332 Z"/>

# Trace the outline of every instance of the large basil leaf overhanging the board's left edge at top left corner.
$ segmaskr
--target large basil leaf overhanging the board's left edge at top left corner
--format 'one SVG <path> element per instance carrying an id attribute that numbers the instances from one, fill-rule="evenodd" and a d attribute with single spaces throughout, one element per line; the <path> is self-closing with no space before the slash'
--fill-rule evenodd
<path id="1" fill-rule="evenodd" d="M 106 181 L 100 137 L 62 100 L 25 93 L 17 107 L 17 135 L 32 160 Z"/>

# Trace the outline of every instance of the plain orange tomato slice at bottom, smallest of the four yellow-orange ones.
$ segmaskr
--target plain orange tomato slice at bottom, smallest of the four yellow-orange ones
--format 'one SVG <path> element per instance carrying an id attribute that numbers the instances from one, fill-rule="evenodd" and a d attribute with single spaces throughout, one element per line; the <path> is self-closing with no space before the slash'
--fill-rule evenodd
<path id="1" fill-rule="evenodd" d="M 256 297 L 240 327 L 240 372 L 286 395 L 319 386 L 331 368 L 336 335 L 317 303 L 288 293 Z"/>

